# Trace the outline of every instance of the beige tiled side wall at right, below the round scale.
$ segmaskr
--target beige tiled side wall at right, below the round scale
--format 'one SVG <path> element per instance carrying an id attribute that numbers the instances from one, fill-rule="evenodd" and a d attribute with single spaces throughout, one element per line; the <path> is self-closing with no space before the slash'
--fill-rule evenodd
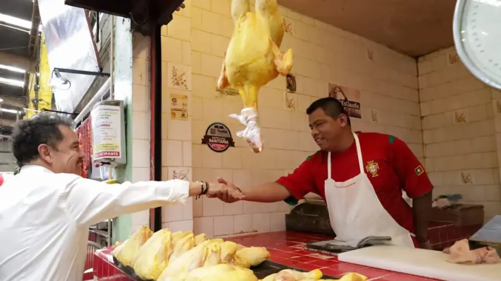
<path id="1" fill-rule="evenodd" d="M 473 77 L 454 48 L 419 58 L 425 168 L 434 196 L 461 193 L 501 213 L 501 92 Z"/>

